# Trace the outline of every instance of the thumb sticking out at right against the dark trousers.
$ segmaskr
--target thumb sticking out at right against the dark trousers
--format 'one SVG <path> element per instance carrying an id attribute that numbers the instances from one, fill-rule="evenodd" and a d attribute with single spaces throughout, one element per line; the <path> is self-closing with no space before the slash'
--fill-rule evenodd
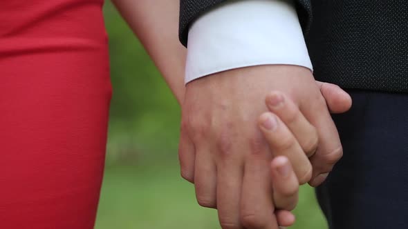
<path id="1" fill-rule="evenodd" d="M 351 97 L 350 95 L 342 90 L 339 86 L 333 83 L 324 83 L 316 81 L 317 86 L 320 88 L 328 110 L 333 114 L 344 113 L 351 108 Z"/>

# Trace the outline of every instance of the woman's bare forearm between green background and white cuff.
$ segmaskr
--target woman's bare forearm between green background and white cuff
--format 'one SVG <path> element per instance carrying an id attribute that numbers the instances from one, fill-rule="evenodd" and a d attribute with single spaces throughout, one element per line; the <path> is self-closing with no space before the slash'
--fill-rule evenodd
<path id="1" fill-rule="evenodd" d="M 178 41 L 179 0 L 112 0 L 163 74 L 178 103 L 184 97 L 186 49 Z"/>

